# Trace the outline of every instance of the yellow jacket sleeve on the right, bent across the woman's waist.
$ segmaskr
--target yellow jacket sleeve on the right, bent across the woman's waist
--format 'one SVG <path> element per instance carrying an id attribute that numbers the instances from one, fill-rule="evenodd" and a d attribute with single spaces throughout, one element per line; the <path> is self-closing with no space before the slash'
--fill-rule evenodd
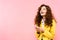
<path id="1" fill-rule="evenodd" d="M 52 24 L 53 25 L 52 25 L 52 27 L 50 29 L 50 32 L 47 31 L 47 30 L 45 30 L 44 33 L 43 33 L 44 36 L 46 36 L 46 37 L 48 37 L 50 39 L 53 39 L 54 38 L 54 35 L 55 35 L 55 26 L 56 26 L 56 23 L 55 23 L 54 20 L 53 20 L 53 23 Z"/>

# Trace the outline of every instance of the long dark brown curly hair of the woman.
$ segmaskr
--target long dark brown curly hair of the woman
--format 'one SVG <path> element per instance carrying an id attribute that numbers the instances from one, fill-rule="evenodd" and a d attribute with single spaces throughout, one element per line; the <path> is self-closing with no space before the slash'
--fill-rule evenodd
<path id="1" fill-rule="evenodd" d="M 37 24 L 37 26 L 40 26 L 40 24 L 41 24 L 41 20 L 42 20 L 43 17 L 40 14 L 40 10 L 43 6 L 45 6 L 46 9 L 47 9 L 47 12 L 46 12 L 46 15 L 45 15 L 45 18 L 46 18 L 45 25 L 52 26 L 52 19 L 54 19 L 54 17 L 52 15 L 51 8 L 48 5 L 45 5 L 45 4 L 42 4 L 38 8 L 37 15 L 35 17 L 35 24 Z"/>

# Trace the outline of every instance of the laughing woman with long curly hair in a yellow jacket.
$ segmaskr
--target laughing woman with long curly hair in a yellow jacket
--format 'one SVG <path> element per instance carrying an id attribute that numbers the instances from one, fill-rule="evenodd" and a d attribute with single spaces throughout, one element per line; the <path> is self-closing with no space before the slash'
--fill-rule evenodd
<path id="1" fill-rule="evenodd" d="M 56 20 L 51 8 L 42 4 L 35 17 L 35 36 L 37 40 L 54 40 Z"/>

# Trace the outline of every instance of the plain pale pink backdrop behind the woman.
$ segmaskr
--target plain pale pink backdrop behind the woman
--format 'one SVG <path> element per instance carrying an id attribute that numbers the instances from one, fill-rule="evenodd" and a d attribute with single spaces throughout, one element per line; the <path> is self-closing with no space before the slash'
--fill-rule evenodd
<path id="1" fill-rule="evenodd" d="M 52 9 L 57 20 L 55 40 L 60 40 L 60 0 L 0 0 L 0 40 L 36 40 L 34 18 L 43 3 Z"/>

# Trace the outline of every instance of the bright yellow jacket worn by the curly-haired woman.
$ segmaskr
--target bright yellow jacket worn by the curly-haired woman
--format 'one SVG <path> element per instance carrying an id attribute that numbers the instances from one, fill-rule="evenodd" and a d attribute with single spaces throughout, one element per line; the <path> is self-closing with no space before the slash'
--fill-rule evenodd
<path id="1" fill-rule="evenodd" d="M 42 23 L 40 24 L 40 26 L 42 26 Z M 53 40 L 54 36 L 55 36 L 55 26 L 56 26 L 56 22 L 55 20 L 52 20 L 52 27 L 48 27 L 47 25 L 44 26 L 44 33 L 40 33 L 38 34 L 37 31 L 35 31 L 35 36 L 38 40 L 41 40 L 43 38 L 43 40 Z"/>

